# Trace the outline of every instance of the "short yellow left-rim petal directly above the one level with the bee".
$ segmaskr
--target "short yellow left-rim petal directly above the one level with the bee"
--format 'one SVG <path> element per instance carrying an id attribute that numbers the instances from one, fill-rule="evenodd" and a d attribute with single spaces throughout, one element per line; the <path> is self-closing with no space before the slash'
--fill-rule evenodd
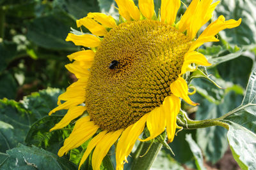
<path id="1" fill-rule="evenodd" d="M 79 60 L 79 61 L 93 61 L 95 56 L 95 52 L 92 50 L 82 50 L 80 52 L 75 52 L 68 55 L 68 59 L 72 60 Z"/>

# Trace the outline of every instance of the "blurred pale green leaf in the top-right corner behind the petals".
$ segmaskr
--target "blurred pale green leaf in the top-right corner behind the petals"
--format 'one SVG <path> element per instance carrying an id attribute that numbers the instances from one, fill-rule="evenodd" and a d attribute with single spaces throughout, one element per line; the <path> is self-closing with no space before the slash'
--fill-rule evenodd
<path id="1" fill-rule="evenodd" d="M 227 19 L 242 18 L 241 25 L 233 29 L 221 31 L 223 39 L 228 39 L 233 45 L 252 45 L 256 42 L 256 1 L 225 0 L 216 8 L 216 16 L 223 15 Z"/>

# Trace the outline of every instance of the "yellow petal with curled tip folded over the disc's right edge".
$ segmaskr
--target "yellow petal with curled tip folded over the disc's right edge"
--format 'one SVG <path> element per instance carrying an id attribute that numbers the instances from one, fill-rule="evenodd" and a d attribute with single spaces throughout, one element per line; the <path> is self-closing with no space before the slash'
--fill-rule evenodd
<path id="1" fill-rule="evenodd" d="M 197 103 L 194 103 L 188 97 L 188 84 L 184 78 L 179 77 L 171 85 L 170 89 L 173 95 L 182 98 L 186 103 L 196 106 Z"/>

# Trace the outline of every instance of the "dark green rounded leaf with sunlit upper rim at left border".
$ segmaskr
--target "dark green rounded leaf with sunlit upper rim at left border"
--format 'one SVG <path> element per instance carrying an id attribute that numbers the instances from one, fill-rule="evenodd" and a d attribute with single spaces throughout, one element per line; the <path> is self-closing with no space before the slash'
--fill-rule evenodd
<path id="1" fill-rule="evenodd" d="M 0 152 L 23 143 L 30 127 L 28 111 L 21 104 L 8 99 L 0 100 Z"/>

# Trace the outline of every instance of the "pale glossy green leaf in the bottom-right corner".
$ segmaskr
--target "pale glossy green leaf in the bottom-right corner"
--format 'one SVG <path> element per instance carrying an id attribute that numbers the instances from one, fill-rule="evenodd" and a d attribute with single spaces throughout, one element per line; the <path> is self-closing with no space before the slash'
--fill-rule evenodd
<path id="1" fill-rule="evenodd" d="M 239 124 L 227 121 L 228 143 L 241 169 L 256 169 L 256 135 Z"/>

